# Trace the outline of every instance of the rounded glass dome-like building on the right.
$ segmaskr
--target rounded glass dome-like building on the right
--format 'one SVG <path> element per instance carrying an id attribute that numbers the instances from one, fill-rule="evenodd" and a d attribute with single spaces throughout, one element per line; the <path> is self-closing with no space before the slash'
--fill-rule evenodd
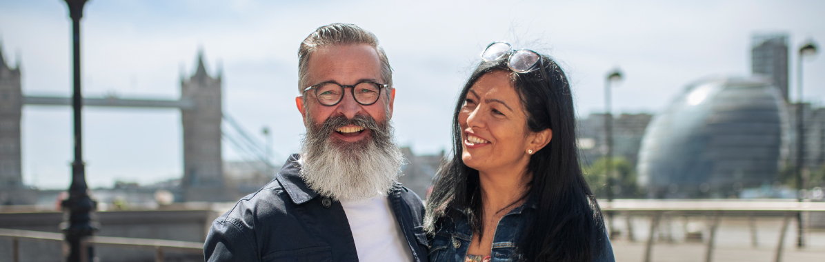
<path id="1" fill-rule="evenodd" d="M 648 198 L 726 198 L 770 185 L 787 156 L 785 101 L 771 80 L 711 78 L 688 85 L 653 117 L 639 150 Z"/>

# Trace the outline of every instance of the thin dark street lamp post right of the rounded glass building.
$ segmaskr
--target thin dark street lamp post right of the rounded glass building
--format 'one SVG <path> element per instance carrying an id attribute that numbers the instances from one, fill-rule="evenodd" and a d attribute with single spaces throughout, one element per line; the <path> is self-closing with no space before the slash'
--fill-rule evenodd
<path id="1" fill-rule="evenodd" d="M 817 44 L 813 42 L 813 40 L 808 40 L 807 43 L 802 44 L 799 47 L 799 55 L 796 58 L 796 84 L 797 84 L 797 95 L 796 95 L 796 165 L 794 166 L 794 173 L 796 175 L 796 189 L 797 191 L 797 200 L 802 202 L 804 199 L 804 190 L 807 188 L 804 181 L 802 180 L 802 168 L 805 163 L 805 133 L 804 133 L 804 124 L 803 124 L 803 100 L 802 100 L 802 60 L 806 56 L 813 56 L 817 54 Z M 796 225 L 797 225 L 797 236 L 798 239 L 796 241 L 796 245 L 799 247 L 805 246 L 804 237 L 803 237 L 803 228 L 802 228 L 802 212 L 796 213 Z"/>

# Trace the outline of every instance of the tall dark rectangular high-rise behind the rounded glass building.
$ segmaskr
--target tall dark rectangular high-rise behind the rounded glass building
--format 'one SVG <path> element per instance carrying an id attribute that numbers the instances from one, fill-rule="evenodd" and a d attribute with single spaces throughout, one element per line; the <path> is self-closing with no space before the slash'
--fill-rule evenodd
<path id="1" fill-rule="evenodd" d="M 788 35 L 755 34 L 751 40 L 751 72 L 771 80 L 788 101 Z"/>

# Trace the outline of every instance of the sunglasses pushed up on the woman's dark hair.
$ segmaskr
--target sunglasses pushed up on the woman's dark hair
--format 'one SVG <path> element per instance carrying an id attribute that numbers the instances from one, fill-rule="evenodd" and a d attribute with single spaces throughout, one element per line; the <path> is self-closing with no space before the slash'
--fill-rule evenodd
<path id="1" fill-rule="evenodd" d="M 481 59 L 485 62 L 493 62 L 502 58 L 507 58 L 507 68 L 516 73 L 527 73 L 539 68 L 536 66 L 541 62 L 541 55 L 529 49 L 513 50 L 510 44 L 505 42 L 493 42 L 489 44 L 483 52 Z"/>

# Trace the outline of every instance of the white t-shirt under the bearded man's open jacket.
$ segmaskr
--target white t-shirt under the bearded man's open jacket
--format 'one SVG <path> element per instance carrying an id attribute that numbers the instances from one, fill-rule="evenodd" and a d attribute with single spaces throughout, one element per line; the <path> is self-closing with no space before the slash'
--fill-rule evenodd
<path id="1" fill-rule="evenodd" d="M 386 196 L 342 201 L 341 205 L 350 222 L 358 261 L 413 261 L 413 251 Z"/>

